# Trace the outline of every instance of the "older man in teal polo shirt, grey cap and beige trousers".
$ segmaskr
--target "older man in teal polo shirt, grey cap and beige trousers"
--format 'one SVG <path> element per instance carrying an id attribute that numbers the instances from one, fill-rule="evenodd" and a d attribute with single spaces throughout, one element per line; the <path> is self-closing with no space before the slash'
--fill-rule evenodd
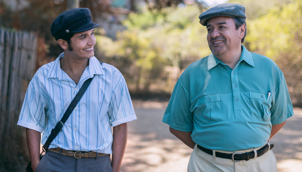
<path id="1" fill-rule="evenodd" d="M 212 53 L 179 77 L 163 122 L 194 149 L 189 172 L 277 171 L 268 140 L 293 115 L 283 73 L 241 45 L 242 5 L 217 5 L 199 18 Z"/>

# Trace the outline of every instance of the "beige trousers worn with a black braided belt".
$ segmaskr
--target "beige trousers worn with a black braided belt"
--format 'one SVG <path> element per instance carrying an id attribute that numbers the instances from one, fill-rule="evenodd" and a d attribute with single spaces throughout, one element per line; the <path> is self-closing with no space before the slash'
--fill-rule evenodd
<path id="1" fill-rule="evenodd" d="M 260 147 L 262 148 L 262 146 Z M 256 148 L 256 150 L 260 149 Z M 253 149 L 236 151 L 238 153 L 246 153 Z M 234 153 L 219 151 L 223 153 Z M 234 162 L 230 159 L 218 158 L 214 159 L 213 155 L 207 154 L 197 148 L 195 145 L 188 164 L 188 172 L 277 172 L 277 161 L 275 155 L 269 150 L 264 155 L 249 161 L 243 160 Z"/>

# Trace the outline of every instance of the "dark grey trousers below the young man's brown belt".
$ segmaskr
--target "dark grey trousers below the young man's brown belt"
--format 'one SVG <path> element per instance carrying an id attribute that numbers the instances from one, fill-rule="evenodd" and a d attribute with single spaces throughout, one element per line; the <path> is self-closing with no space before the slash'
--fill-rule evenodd
<path id="1" fill-rule="evenodd" d="M 47 151 L 35 172 L 113 172 L 110 156 L 98 158 L 75 158 Z"/>

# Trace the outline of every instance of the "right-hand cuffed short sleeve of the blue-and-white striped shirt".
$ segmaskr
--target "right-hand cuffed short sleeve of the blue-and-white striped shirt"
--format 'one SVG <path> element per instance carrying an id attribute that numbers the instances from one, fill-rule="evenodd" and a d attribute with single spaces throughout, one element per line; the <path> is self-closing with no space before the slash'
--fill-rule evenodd
<path id="1" fill-rule="evenodd" d="M 124 77 L 121 74 L 119 78 L 115 76 L 118 82 L 114 85 L 108 111 L 111 127 L 137 119 Z"/>

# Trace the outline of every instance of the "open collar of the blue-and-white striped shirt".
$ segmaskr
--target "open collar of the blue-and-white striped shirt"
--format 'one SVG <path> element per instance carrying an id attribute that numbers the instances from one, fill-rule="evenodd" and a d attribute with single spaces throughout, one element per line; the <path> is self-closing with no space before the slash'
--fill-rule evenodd
<path id="1" fill-rule="evenodd" d="M 50 66 L 47 78 L 58 78 L 59 80 L 63 79 L 64 74 L 66 75 L 66 73 L 61 69 L 60 66 L 60 59 L 63 57 L 64 53 L 61 53 L 59 57 L 53 62 L 53 64 Z M 95 56 L 89 59 L 88 73 L 90 78 L 92 78 L 94 75 L 103 75 L 103 68 Z"/>

